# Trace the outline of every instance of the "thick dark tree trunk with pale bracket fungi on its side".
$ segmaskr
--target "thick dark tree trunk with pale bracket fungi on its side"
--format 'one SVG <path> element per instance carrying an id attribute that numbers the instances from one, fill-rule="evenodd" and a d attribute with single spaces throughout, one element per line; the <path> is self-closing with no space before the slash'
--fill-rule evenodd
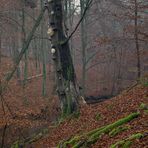
<path id="1" fill-rule="evenodd" d="M 61 101 L 62 117 L 78 110 L 79 93 L 70 49 L 63 32 L 62 0 L 46 4 L 50 16 L 48 35 L 56 71 L 57 93 Z"/>

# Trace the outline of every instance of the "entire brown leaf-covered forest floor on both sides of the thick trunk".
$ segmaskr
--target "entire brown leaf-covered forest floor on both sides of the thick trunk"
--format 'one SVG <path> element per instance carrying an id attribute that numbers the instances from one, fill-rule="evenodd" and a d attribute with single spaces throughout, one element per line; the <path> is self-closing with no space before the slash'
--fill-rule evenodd
<path id="1" fill-rule="evenodd" d="M 10 61 L 3 61 L 0 78 L 11 66 Z M 2 98 L 6 103 L 0 102 L 0 145 L 7 148 L 14 143 L 14 147 L 23 143 L 28 148 L 54 148 L 60 141 L 111 124 L 136 111 L 140 111 L 140 116 L 124 125 L 128 130 L 113 137 L 104 134 L 91 147 L 109 148 L 111 144 L 132 134 L 148 132 L 148 113 L 140 109 L 142 103 L 148 105 L 147 86 L 137 85 L 104 102 L 85 104 L 81 106 L 80 114 L 55 124 L 52 121 L 58 116 L 58 99 L 55 96 L 39 97 L 41 84 L 41 78 L 36 78 L 23 88 L 15 79 L 11 80 Z M 51 93 L 50 86 L 47 90 Z M 132 147 L 147 148 L 148 137 L 135 140 Z"/>

